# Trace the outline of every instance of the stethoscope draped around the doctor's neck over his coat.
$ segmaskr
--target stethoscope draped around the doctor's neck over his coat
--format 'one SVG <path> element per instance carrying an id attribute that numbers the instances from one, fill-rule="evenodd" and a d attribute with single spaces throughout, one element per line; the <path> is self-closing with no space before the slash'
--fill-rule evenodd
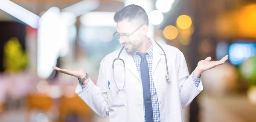
<path id="1" fill-rule="evenodd" d="M 156 42 L 156 41 L 155 41 L 155 42 Z M 157 43 L 157 42 L 156 42 L 156 43 Z M 163 48 L 162 48 L 158 43 L 157 43 L 157 45 L 161 48 L 161 50 L 163 50 Z M 120 50 L 120 52 L 119 52 L 119 54 L 118 54 L 118 57 L 113 60 L 113 64 L 112 64 L 113 78 L 114 78 L 115 84 L 116 84 L 116 80 L 115 80 L 115 76 L 114 76 L 114 63 L 115 63 L 116 60 L 121 60 L 121 61 L 123 62 L 123 64 L 124 64 L 123 67 L 124 67 L 124 71 L 125 71 L 125 61 L 124 61 L 122 58 L 119 58 L 119 56 L 120 56 L 122 50 L 124 49 L 124 47 L 125 47 L 125 46 L 122 47 L 122 49 Z M 170 82 L 170 81 L 171 81 L 171 77 L 169 76 L 168 65 L 167 65 L 167 59 L 166 59 L 166 53 L 164 52 L 164 50 L 163 50 L 163 54 L 164 54 L 165 61 L 166 61 L 166 72 L 167 72 L 167 74 L 166 74 L 166 80 L 167 80 L 168 82 Z M 124 87 L 125 87 L 125 80 L 124 80 L 124 85 L 122 86 L 122 89 L 119 89 L 119 88 L 117 87 L 117 85 L 116 85 L 116 88 L 117 88 L 116 90 L 117 90 L 117 91 L 122 91 L 122 90 L 124 89 Z"/>

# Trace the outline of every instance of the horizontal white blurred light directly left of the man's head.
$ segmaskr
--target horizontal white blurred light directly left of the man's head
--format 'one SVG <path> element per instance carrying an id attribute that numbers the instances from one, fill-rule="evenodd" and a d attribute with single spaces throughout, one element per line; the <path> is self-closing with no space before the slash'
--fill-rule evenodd
<path id="1" fill-rule="evenodd" d="M 116 26 L 113 21 L 115 12 L 89 12 L 80 17 L 80 22 L 84 26 Z"/>

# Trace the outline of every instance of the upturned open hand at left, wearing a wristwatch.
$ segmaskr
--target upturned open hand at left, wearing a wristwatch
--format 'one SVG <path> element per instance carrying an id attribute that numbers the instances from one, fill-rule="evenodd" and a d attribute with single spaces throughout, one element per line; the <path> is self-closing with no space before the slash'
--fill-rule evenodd
<path id="1" fill-rule="evenodd" d="M 61 72 L 61 73 L 64 73 L 64 74 L 67 74 L 67 75 L 71 75 L 71 76 L 75 76 L 76 78 L 79 78 L 79 79 L 83 79 L 86 75 L 84 69 L 61 69 L 61 68 L 58 68 L 58 67 L 52 67 L 53 69 Z M 84 83 L 88 83 L 88 79 L 84 81 Z"/>

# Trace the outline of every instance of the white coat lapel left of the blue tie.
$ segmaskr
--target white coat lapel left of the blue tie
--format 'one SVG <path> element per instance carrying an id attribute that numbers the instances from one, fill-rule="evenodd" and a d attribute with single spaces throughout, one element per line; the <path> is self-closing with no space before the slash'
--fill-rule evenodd
<path id="1" fill-rule="evenodd" d="M 128 54 L 125 49 L 122 50 L 122 55 L 120 58 L 123 58 L 125 61 L 125 67 L 141 82 L 140 75 L 138 69 L 134 63 L 134 60 L 130 54 Z"/>

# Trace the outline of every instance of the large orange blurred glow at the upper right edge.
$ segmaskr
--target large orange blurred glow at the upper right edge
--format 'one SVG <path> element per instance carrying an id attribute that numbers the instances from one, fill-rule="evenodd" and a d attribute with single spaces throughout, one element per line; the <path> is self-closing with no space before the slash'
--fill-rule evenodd
<path id="1" fill-rule="evenodd" d="M 240 6 L 218 15 L 215 27 L 222 38 L 256 39 L 256 4 Z M 234 29 L 236 28 L 236 29 Z"/>

